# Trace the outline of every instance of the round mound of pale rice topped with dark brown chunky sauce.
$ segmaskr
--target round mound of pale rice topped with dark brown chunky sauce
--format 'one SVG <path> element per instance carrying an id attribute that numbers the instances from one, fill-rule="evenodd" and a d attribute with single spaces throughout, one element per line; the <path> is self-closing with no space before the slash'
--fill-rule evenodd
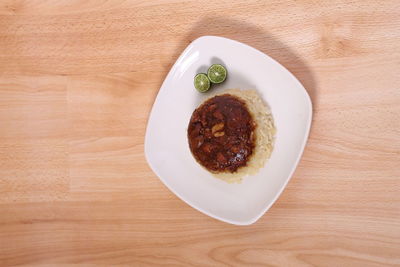
<path id="1" fill-rule="evenodd" d="M 231 89 L 193 112 L 188 140 L 200 165 L 227 182 L 239 182 L 264 166 L 274 132 L 272 115 L 257 91 Z"/>

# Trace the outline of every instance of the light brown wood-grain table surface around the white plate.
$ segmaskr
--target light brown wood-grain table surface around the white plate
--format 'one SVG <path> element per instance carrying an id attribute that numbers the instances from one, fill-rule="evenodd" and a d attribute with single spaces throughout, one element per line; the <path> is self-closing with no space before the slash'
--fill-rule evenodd
<path id="1" fill-rule="evenodd" d="M 267 53 L 310 138 L 254 225 L 209 218 L 146 163 L 153 101 L 195 38 Z M 400 265 L 400 2 L 2 1 L 0 265 Z"/>

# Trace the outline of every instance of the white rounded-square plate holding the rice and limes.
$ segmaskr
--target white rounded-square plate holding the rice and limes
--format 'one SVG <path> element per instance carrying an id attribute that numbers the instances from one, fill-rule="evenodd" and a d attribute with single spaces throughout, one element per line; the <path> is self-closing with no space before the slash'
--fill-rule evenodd
<path id="1" fill-rule="evenodd" d="M 190 117 L 207 96 L 196 91 L 193 78 L 212 63 L 226 66 L 228 78 L 211 90 L 257 89 L 277 129 L 271 158 L 241 184 L 214 178 L 188 145 Z M 237 41 L 203 36 L 185 49 L 161 86 L 147 125 L 145 154 L 161 181 L 187 204 L 221 221 L 247 225 L 271 207 L 288 183 L 304 150 L 311 116 L 306 90 L 278 62 Z"/>

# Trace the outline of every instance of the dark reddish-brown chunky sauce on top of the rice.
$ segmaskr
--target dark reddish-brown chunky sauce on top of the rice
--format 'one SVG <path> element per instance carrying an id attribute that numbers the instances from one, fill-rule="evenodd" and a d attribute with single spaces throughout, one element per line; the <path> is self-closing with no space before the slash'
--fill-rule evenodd
<path id="1" fill-rule="evenodd" d="M 196 160 L 212 172 L 235 172 L 254 149 L 255 123 L 246 104 L 225 94 L 215 96 L 192 114 L 189 146 Z"/>

